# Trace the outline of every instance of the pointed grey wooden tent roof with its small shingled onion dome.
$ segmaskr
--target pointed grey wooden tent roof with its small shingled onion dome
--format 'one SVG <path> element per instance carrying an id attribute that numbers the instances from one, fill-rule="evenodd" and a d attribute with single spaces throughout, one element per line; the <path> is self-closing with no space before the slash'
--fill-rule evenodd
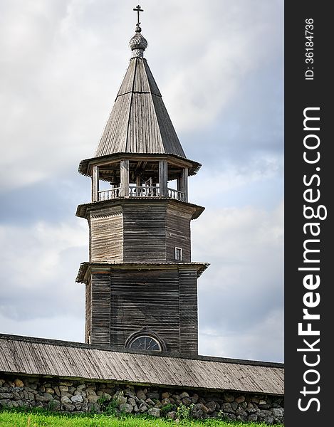
<path id="1" fill-rule="evenodd" d="M 138 28 L 130 40 L 130 65 L 95 157 L 115 153 L 159 153 L 186 157 L 157 83 L 143 58 L 147 41 Z"/>

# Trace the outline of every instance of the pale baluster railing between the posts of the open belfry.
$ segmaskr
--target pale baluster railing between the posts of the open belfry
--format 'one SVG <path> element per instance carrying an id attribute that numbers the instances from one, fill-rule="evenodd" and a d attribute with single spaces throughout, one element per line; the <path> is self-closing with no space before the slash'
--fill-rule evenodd
<path id="1" fill-rule="evenodd" d="M 182 193 L 182 191 L 175 189 L 167 189 L 167 191 L 167 197 L 169 199 L 186 201 L 185 194 Z M 118 199 L 119 197 L 122 197 L 120 195 L 120 187 L 105 191 L 98 191 L 98 201 Z M 129 186 L 129 197 L 158 198 L 162 196 L 158 186 Z"/>

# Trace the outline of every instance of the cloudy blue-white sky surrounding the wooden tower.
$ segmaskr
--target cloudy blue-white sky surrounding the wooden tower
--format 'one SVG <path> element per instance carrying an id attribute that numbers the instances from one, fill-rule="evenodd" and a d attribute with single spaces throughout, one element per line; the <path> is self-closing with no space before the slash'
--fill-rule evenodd
<path id="1" fill-rule="evenodd" d="M 199 354 L 283 361 L 283 0 L 143 0 L 150 69 L 189 159 Z M 137 6 L 0 1 L 0 332 L 84 341 L 93 157 Z"/>

